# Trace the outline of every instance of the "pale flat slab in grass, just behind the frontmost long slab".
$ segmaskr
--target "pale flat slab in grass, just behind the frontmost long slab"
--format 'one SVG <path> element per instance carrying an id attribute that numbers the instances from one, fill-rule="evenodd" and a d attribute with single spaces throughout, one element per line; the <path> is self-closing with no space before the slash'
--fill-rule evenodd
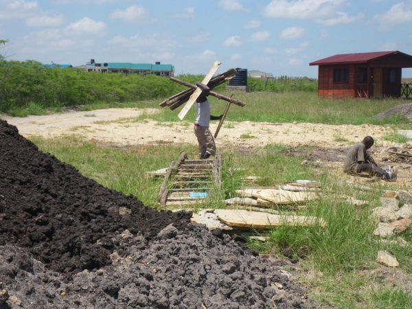
<path id="1" fill-rule="evenodd" d="M 270 201 L 275 204 L 304 203 L 319 197 L 319 195 L 314 192 L 290 192 L 282 189 L 261 190 L 244 188 L 242 190 L 236 190 L 236 193 L 240 193 L 243 196 L 254 196 L 256 198 L 262 198 L 262 200 Z"/>

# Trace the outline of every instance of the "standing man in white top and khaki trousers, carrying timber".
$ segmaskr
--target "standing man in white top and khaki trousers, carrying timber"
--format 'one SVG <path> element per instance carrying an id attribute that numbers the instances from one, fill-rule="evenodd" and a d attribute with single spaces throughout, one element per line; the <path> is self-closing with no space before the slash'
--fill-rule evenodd
<path id="1" fill-rule="evenodd" d="M 207 100 L 210 89 L 207 85 L 201 82 L 196 82 L 196 86 L 202 90 L 201 95 L 196 100 L 196 120 L 194 121 L 194 135 L 198 139 L 199 151 L 201 152 L 201 159 L 207 159 L 216 154 L 216 145 L 213 135 L 209 130 L 210 120 L 222 119 L 223 115 L 219 117 L 210 115 L 210 104 Z"/>

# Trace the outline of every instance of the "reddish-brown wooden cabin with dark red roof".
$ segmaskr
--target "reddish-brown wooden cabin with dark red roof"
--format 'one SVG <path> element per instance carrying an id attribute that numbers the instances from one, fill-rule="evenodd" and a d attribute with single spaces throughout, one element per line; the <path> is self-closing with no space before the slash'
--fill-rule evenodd
<path id="1" fill-rule="evenodd" d="M 321 98 L 400 97 L 402 68 L 412 67 L 412 56 L 402 52 L 341 54 L 309 65 L 319 65 Z"/>

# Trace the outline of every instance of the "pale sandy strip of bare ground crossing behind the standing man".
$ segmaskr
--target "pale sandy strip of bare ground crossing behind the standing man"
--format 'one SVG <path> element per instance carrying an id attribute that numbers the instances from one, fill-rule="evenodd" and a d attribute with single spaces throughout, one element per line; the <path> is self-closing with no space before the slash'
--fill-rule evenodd
<path id="1" fill-rule="evenodd" d="M 19 128 L 25 136 L 62 137 L 82 135 L 86 140 L 111 146 L 137 146 L 144 144 L 190 143 L 197 144 L 193 133 L 193 119 L 183 122 L 158 123 L 153 119 L 136 122 L 141 113 L 156 113 L 152 108 L 109 108 L 89 112 L 70 112 L 63 114 L 4 117 L 10 124 Z M 178 120 L 178 119 L 176 119 Z M 211 124 L 214 133 L 218 123 Z M 376 139 L 376 146 L 392 146 L 383 141 L 382 136 L 391 133 L 390 128 L 363 124 L 272 124 L 256 122 L 225 122 L 220 130 L 216 145 L 255 148 L 266 144 L 285 144 L 290 146 L 318 146 L 341 148 L 366 135 Z M 342 138 L 347 141 L 336 141 Z"/>

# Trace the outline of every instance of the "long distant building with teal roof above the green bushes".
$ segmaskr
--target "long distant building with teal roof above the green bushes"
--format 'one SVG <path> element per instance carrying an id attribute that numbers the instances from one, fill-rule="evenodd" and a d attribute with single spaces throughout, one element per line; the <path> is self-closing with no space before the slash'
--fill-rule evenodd
<path id="1" fill-rule="evenodd" d="M 98 63 L 91 59 L 86 65 L 79 65 L 76 69 L 83 69 L 87 72 L 112 72 L 112 73 L 135 73 L 135 74 L 154 74 L 157 76 L 174 76 L 173 65 L 161 65 L 156 62 L 155 65 L 150 63 L 131 63 L 131 62 L 104 62 Z"/>

